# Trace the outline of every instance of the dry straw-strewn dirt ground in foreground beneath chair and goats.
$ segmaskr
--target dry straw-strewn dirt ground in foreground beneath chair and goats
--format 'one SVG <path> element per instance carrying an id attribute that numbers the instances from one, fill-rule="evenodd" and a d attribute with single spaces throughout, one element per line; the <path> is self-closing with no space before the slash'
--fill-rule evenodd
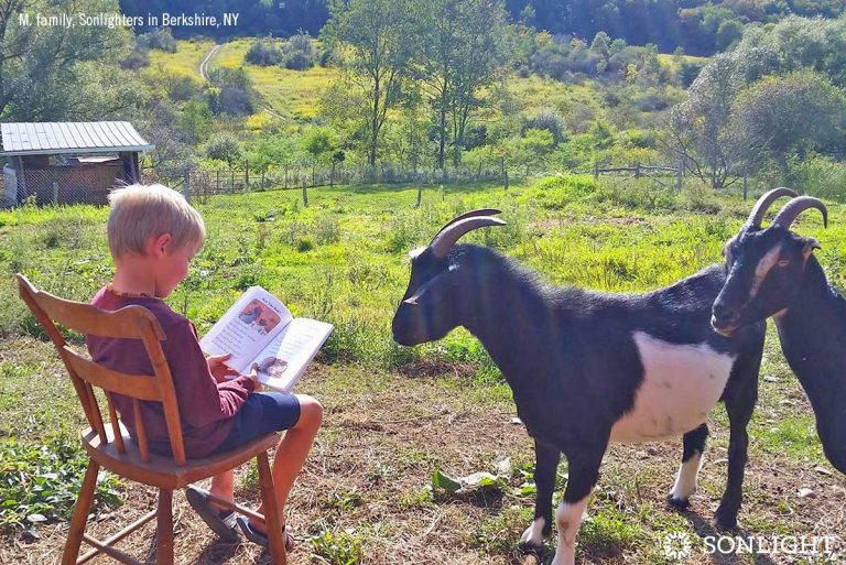
<path id="1" fill-rule="evenodd" d="M 516 544 L 531 520 L 532 497 L 494 492 L 433 498 L 426 490 L 435 467 L 460 477 L 491 470 L 503 457 L 518 467 L 531 461 L 532 444 L 522 425 L 513 421 L 507 389 L 473 383 L 460 372 L 456 368 L 457 377 L 411 379 L 355 368 L 311 369 L 301 389 L 322 400 L 325 423 L 291 496 L 286 519 L 295 530 L 297 547 L 289 563 L 344 563 L 340 553 L 333 557 L 333 539 L 355 540 L 360 546 L 360 561 L 349 563 L 523 562 Z M 812 563 L 790 555 L 706 555 L 697 551 L 697 536 L 715 534 L 712 519 L 725 485 L 728 431 L 718 423 L 712 428 L 699 490 L 692 497 L 691 510 L 681 514 L 664 503 L 681 456 L 681 441 L 615 446 L 609 452 L 589 507 L 597 521 L 592 522 L 589 535 L 579 537 L 579 564 Z M 511 485 L 516 488 L 520 482 L 513 478 Z M 258 500 L 254 471 L 241 469 L 239 483 L 241 500 Z M 846 543 L 846 479 L 826 464 L 762 453 L 752 438 L 744 488 L 738 534 L 835 534 Z M 812 495 L 800 497 L 802 488 Z M 90 533 L 107 536 L 151 508 L 155 499 L 151 489 L 130 485 L 124 496 L 123 507 L 94 517 Z M 175 495 L 174 504 L 176 563 L 269 563 L 269 556 L 250 542 L 218 542 L 182 493 Z M 692 557 L 672 562 L 662 556 L 659 544 L 668 524 L 695 532 Z M 56 563 L 65 528 L 44 526 L 35 541 L 2 539 L 0 563 Z M 121 547 L 143 559 L 153 543 L 153 526 L 148 525 Z M 549 552 L 543 562 L 551 559 Z M 109 561 L 98 557 L 91 563 Z"/>

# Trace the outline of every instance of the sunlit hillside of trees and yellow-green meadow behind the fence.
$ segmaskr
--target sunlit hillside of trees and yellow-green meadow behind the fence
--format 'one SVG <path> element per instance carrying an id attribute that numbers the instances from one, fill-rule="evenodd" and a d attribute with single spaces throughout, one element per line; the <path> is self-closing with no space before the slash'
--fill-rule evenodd
<path id="1" fill-rule="evenodd" d="M 307 4 L 261 9 L 294 22 L 291 10 Z M 632 44 L 623 30 L 588 39 L 539 31 L 539 19 L 556 29 L 543 15 L 554 6 L 525 4 L 514 18 L 513 3 L 496 0 L 336 2 L 314 34 L 300 26 L 285 36 L 281 26 L 221 44 L 200 77 L 208 39 L 21 26 L 15 14 L 24 11 L 118 3 L 12 0 L 0 7 L 0 119 L 126 119 L 156 145 L 148 165 L 249 169 L 285 184 L 291 171 L 316 178 L 355 169 L 391 182 L 419 172 L 507 178 L 646 163 L 681 165 L 714 188 L 752 177 L 840 197 L 843 17 L 750 20 L 725 51 L 703 58 Z M 816 10 L 809 6 L 802 10 Z M 206 8 L 228 6 L 192 11 Z M 835 3 L 824 8 L 817 13 L 839 13 Z M 259 8 L 245 10 L 239 33 L 258 18 Z M 778 13 L 792 11 L 801 10 Z"/>

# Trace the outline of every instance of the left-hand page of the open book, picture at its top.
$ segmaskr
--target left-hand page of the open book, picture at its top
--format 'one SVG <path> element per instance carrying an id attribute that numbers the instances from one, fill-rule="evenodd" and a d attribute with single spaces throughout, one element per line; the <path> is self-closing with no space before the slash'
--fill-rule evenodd
<path id="1" fill-rule="evenodd" d="M 292 319 L 291 312 L 275 296 L 261 286 L 251 286 L 199 345 L 209 355 L 232 354 L 226 363 L 243 374 L 258 352 Z"/>

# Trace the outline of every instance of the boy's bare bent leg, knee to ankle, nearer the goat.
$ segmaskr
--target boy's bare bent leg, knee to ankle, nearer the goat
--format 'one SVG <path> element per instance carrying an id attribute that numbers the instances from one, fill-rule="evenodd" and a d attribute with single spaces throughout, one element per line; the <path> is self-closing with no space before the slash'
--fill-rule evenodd
<path id="1" fill-rule="evenodd" d="M 300 470 L 308 457 L 314 438 L 321 428 L 323 422 L 323 406 L 312 396 L 297 394 L 300 401 L 300 420 L 296 424 L 286 430 L 276 447 L 276 455 L 273 457 L 273 486 L 276 491 L 279 504 L 284 512 L 288 495 L 294 486 Z M 264 512 L 264 504 L 259 507 L 260 513 Z M 250 520 L 250 525 L 264 532 L 263 523 L 254 523 Z"/>

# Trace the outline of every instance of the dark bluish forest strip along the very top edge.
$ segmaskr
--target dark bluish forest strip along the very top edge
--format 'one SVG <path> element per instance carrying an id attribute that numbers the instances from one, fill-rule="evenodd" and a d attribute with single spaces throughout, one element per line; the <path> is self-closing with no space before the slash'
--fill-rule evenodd
<path id="1" fill-rule="evenodd" d="M 239 0 L 121 0 L 127 14 L 239 12 L 237 35 L 281 35 L 297 31 L 316 35 L 329 20 L 333 0 L 286 2 Z M 337 0 L 337 3 L 346 3 Z M 513 21 L 536 31 L 583 40 L 605 32 L 632 45 L 653 43 L 662 52 L 677 47 L 692 55 L 712 55 L 740 37 L 747 23 L 776 23 L 789 15 L 836 18 L 844 0 L 507 0 Z M 149 30 L 143 30 L 149 31 Z M 231 34 L 231 30 L 225 31 Z M 191 29 L 177 33 L 215 35 L 220 30 Z"/>

